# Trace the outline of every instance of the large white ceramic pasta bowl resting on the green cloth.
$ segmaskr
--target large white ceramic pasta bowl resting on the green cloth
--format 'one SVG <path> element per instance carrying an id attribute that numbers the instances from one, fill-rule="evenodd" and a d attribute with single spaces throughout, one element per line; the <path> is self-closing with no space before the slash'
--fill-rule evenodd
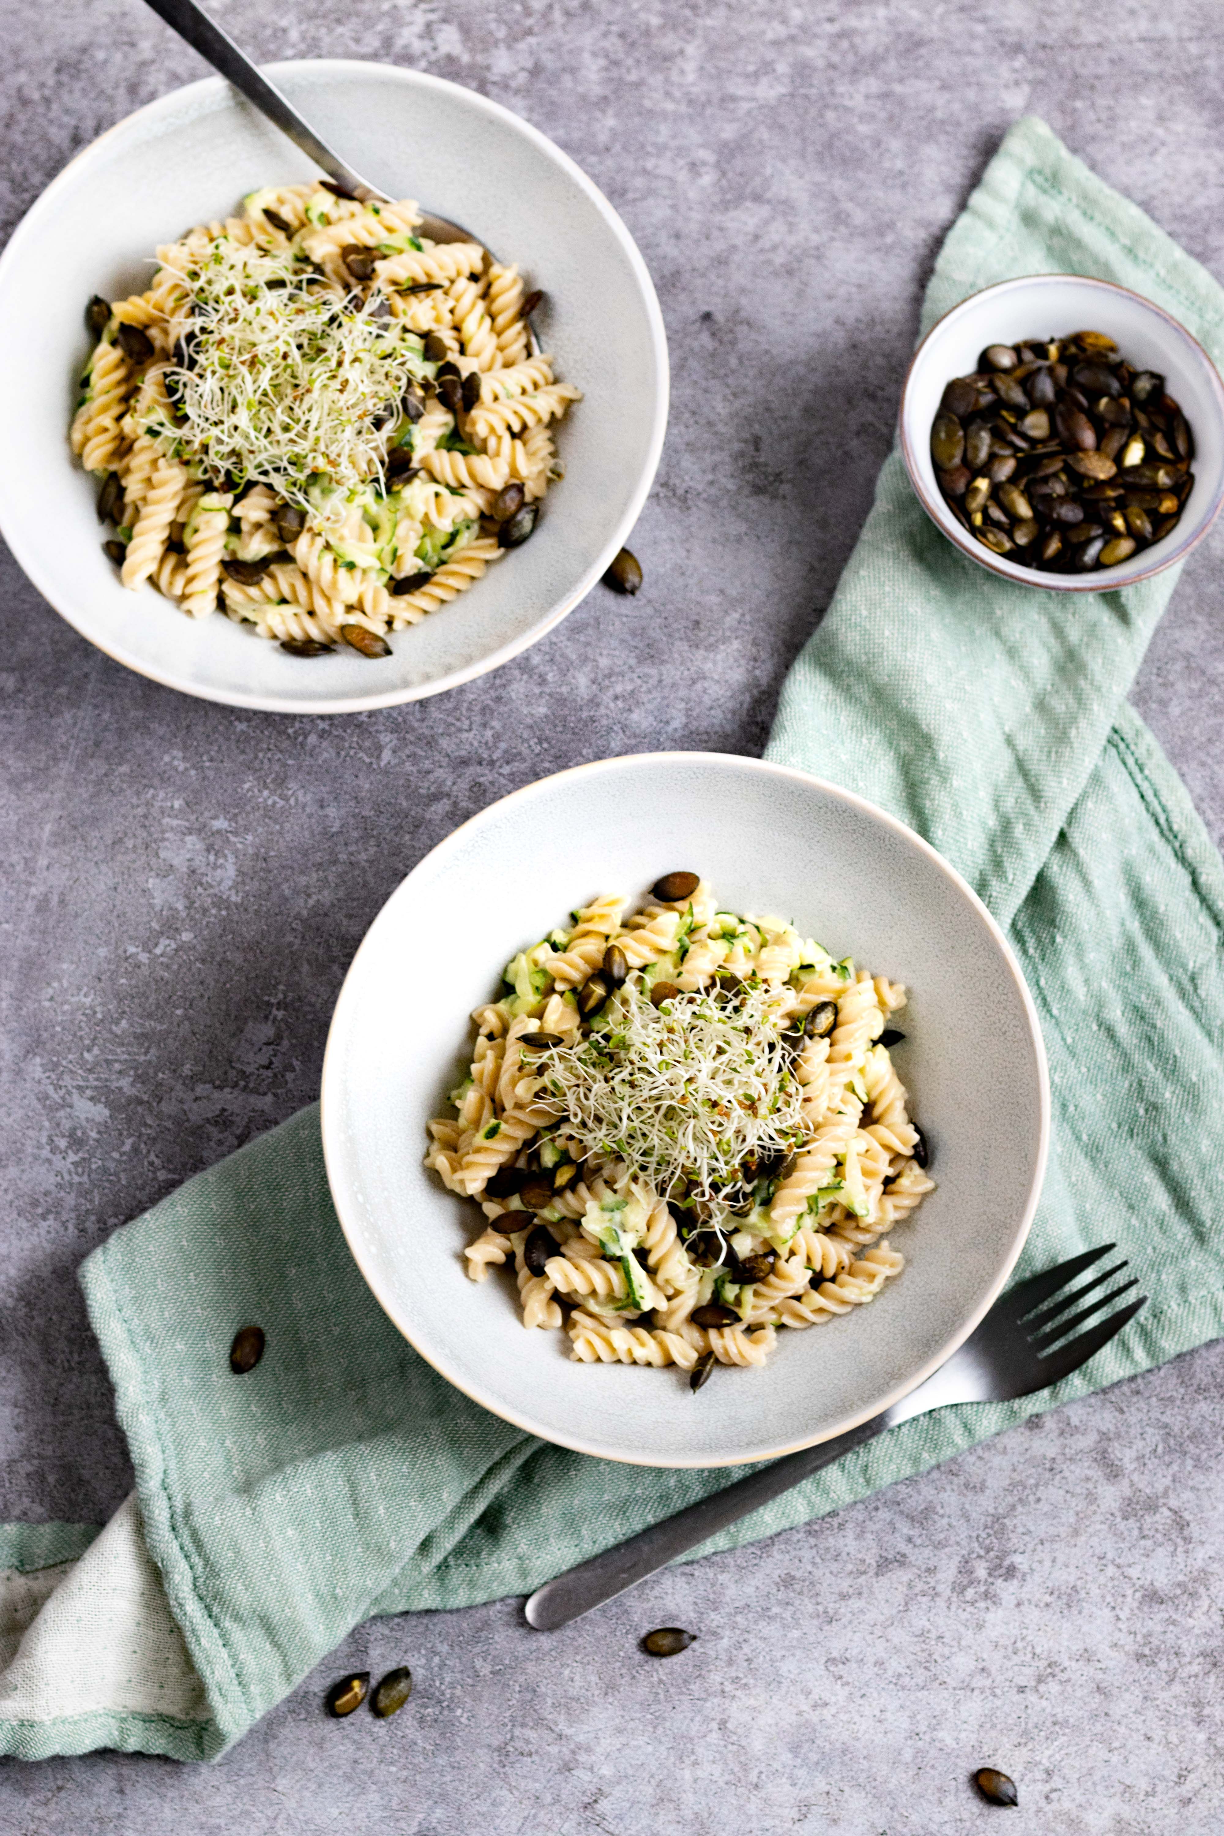
<path id="1" fill-rule="evenodd" d="M 574 1364 L 525 1331 L 505 1271 L 464 1274 L 473 1201 L 426 1171 L 426 1122 L 464 1074 L 468 1012 L 506 958 L 596 892 L 673 868 L 721 903 L 795 920 L 901 979 L 896 1048 L 938 1192 L 892 1241 L 908 1258 L 870 1307 L 782 1331 L 763 1370 Z M 464 823 L 374 920 L 336 1004 L 323 1149 L 349 1247 L 391 1320 L 484 1408 L 607 1460 L 712 1467 L 839 1434 L 905 1395 L 976 1326 L 1024 1243 L 1046 1157 L 1037 1015 L 993 918 L 947 861 L 848 791 L 756 758 L 655 753 L 580 766 Z"/>

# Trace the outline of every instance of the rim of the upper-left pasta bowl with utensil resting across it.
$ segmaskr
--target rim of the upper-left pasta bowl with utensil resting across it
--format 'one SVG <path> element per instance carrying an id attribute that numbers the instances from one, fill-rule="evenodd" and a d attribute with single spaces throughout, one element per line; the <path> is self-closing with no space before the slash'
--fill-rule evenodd
<path id="1" fill-rule="evenodd" d="M 655 373 L 659 378 L 655 389 L 655 402 L 651 411 L 650 441 L 646 448 L 646 463 L 642 465 L 640 477 L 633 488 L 629 503 L 624 516 L 618 520 L 617 529 L 609 540 L 600 549 L 596 560 L 580 575 L 576 584 L 565 593 L 541 619 L 536 621 L 527 632 L 508 639 L 495 650 L 472 663 L 459 668 L 448 670 L 428 683 L 407 683 L 398 688 L 373 690 L 369 694 L 345 694 L 330 696 L 325 700 L 312 698 L 303 700 L 294 694 L 257 694 L 246 692 L 242 688 L 213 688 L 209 685 L 200 685 L 182 676 L 172 668 L 158 668 L 150 665 L 138 652 L 128 652 L 125 644 L 106 643 L 92 630 L 84 630 L 79 617 L 62 604 L 62 597 L 57 597 L 44 573 L 39 553 L 33 545 L 26 543 L 24 531 L 20 527 L 11 527 L 11 520 L 4 516 L 0 509 L 0 531 L 7 542 L 13 558 L 18 567 L 31 582 L 31 586 L 42 595 L 42 599 L 51 606 L 53 611 L 61 615 L 86 643 L 94 644 L 114 663 L 121 663 L 125 668 L 132 670 L 136 676 L 143 676 L 147 681 L 156 681 L 163 688 L 176 688 L 180 694 L 195 696 L 200 701 L 213 701 L 222 707 L 240 707 L 255 709 L 266 714 L 362 714 L 382 707 L 400 707 L 406 701 L 424 701 L 429 696 L 444 694 L 448 688 L 459 688 L 462 683 L 475 681 L 479 676 L 486 676 L 490 670 L 501 668 L 503 663 L 510 663 L 523 650 L 529 650 L 541 637 L 545 637 L 554 626 L 562 622 L 598 584 L 602 575 L 611 565 L 617 553 L 624 547 L 626 538 L 631 534 L 633 525 L 642 514 L 646 498 L 650 496 L 655 474 L 659 470 L 659 459 L 662 457 L 662 442 L 668 426 L 668 406 L 670 406 L 670 362 L 668 362 L 668 340 L 662 321 L 662 308 L 659 307 L 659 296 L 655 285 L 650 277 L 646 261 L 642 259 L 637 242 L 629 235 L 628 226 L 620 218 L 620 213 L 609 204 L 598 185 L 587 178 L 582 167 L 567 154 L 556 141 L 549 140 L 538 127 L 506 108 L 503 103 L 492 101 L 488 95 L 481 95 L 479 90 L 470 90 L 462 83 L 451 83 L 448 77 L 435 77 L 424 70 L 409 70 L 400 64 L 387 64 L 376 59 L 362 57 L 294 57 L 283 59 L 275 64 L 264 66 L 270 77 L 294 77 L 297 73 L 323 73 L 323 75 L 369 75 L 378 73 L 378 77 L 393 77 L 407 84 L 409 88 L 440 90 L 451 95 L 461 95 L 468 106 L 477 112 L 499 121 L 512 132 L 525 136 L 536 145 L 549 160 L 552 160 L 565 176 L 587 196 L 595 206 L 596 213 L 602 217 L 604 224 L 611 231 L 613 239 L 620 244 L 626 255 L 633 277 L 639 285 L 642 297 L 642 307 L 646 312 L 646 323 L 650 330 L 650 343 L 655 360 Z M 143 103 L 130 114 L 123 116 L 112 127 L 105 129 L 95 140 L 86 147 L 81 147 L 64 167 L 51 178 L 48 185 L 39 193 L 29 209 L 22 215 L 20 222 L 13 230 L 6 248 L 0 252 L 0 290 L 7 285 L 9 274 L 17 268 L 24 257 L 24 246 L 29 237 L 39 230 L 44 217 L 55 213 L 61 191 L 68 189 L 75 169 L 84 162 L 92 160 L 101 147 L 117 136 L 138 129 L 141 123 L 154 123 L 160 114 L 171 114 L 184 103 L 193 99 L 204 99 L 209 94 L 218 94 L 229 90 L 229 84 L 220 75 L 198 77 L 195 83 L 184 83 L 174 90 L 167 90 L 163 95 L 154 97 L 150 103 Z M 231 92 L 233 99 L 239 101 L 237 90 Z M 433 200 L 431 200 L 433 202 Z M 64 448 L 66 452 L 66 448 Z"/>

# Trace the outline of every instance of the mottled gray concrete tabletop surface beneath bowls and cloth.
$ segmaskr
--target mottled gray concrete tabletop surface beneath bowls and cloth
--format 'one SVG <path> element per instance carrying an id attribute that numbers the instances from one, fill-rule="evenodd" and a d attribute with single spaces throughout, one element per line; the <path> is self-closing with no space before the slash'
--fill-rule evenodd
<path id="1" fill-rule="evenodd" d="M 189 701 L 90 650 L 0 556 L 0 1518 L 103 1520 L 130 1483 L 75 1285 L 125 1217 L 317 1083 L 400 876 L 490 799 L 585 758 L 763 745 L 888 448 L 934 250 L 1042 114 L 1224 277 L 1211 0 L 215 0 L 257 55 L 439 72 L 554 136 L 655 275 L 673 415 L 635 549 L 499 674 L 341 722 Z M 4 0 L 0 217 L 198 73 L 138 0 Z M 116 204 L 121 207 L 121 202 Z M 18 431 L 18 430 L 17 430 Z M 15 430 L 9 430 L 13 437 Z M 1224 527 L 1136 701 L 1224 835 Z M 606 692 L 633 668 L 631 694 Z M 161 1836 L 1015 1836 L 1220 1829 L 1224 1346 L 565 1634 L 514 1601 L 382 1621 L 220 1766 L 0 1768 L 0 1827 Z M 650 1663 L 648 1627 L 701 1632 Z M 347 1663 L 409 1709 L 328 1724 Z"/>

